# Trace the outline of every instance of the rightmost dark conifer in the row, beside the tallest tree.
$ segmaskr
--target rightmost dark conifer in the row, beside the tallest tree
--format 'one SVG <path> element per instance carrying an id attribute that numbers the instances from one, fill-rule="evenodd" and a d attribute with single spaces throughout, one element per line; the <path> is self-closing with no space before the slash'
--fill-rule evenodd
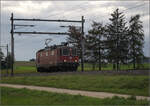
<path id="1" fill-rule="evenodd" d="M 144 46 L 144 31 L 142 22 L 140 21 L 140 15 L 135 15 L 130 18 L 129 21 L 129 35 L 130 35 L 130 57 L 133 62 L 133 67 L 135 69 L 135 64 L 141 62 Z"/>

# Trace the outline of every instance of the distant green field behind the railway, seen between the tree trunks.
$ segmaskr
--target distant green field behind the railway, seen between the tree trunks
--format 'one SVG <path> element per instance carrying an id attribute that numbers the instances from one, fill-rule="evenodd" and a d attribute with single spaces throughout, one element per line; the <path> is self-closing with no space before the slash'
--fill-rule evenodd
<path id="1" fill-rule="evenodd" d="M 84 64 L 85 71 L 93 70 L 92 64 L 85 63 Z M 121 65 L 121 70 L 128 70 L 133 69 L 132 64 L 130 65 Z M 150 69 L 150 64 L 143 64 L 141 66 L 142 69 Z M 95 70 L 99 70 L 98 64 L 95 67 Z M 102 66 L 102 70 L 113 70 L 112 64 L 107 64 Z M 78 67 L 78 71 L 81 71 L 81 65 Z M 28 61 L 16 61 L 14 64 L 14 73 L 36 73 L 35 62 L 28 62 Z M 6 73 L 6 70 L 2 70 L 2 74 Z M 9 70 L 10 73 L 10 70 Z"/>

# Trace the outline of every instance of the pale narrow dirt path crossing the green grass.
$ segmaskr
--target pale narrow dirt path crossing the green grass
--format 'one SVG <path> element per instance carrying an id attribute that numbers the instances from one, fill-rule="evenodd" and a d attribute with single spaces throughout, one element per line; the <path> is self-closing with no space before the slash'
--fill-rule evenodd
<path id="1" fill-rule="evenodd" d="M 115 93 L 107 93 L 107 92 L 93 92 L 93 91 L 81 91 L 81 90 L 70 90 L 70 89 L 61 89 L 61 88 L 51 88 L 51 87 L 40 87 L 40 86 L 28 86 L 28 85 L 15 85 L 15 84 L 0 84 L 1 87 L 11 87 L 11 88 L 27 88 L 31 90 L 40 90 L 40 91 L 48 91 L 48 92 L 56 92 L 56 93 L 67 93 L 71 95 L 82 95 L 82 96 L 90 96 L 96 98 L 106 98 L 106 97 L 113 97 L 119 96 L 128 98 L 130 95 L 124 94 L 115 94 Z M 137 100 L 140 99 L 147 99 L 150 100 L 150 97 L 145 96 L 136 96 Z"/>

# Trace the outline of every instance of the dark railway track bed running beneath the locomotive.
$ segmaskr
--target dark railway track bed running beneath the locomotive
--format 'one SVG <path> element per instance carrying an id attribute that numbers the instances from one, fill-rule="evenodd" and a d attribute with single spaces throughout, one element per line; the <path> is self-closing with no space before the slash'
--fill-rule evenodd
<path id="1" fill-rule="evenodd" d="M 123 71 L 76 71 L 76 72 L 37 72 L 16 73 L 14 76 L 50 76 L 50 75 L 150 75 L 150 70 L 123 70 Z M 6 77 L 6 75 L 1 75 Z M 9 75 L 10 76 L 10 75 Z"/>

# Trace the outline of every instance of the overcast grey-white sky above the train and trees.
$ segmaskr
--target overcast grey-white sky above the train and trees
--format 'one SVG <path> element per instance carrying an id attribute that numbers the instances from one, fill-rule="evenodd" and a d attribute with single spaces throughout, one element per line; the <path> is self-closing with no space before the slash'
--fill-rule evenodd
<path id="1" fill-rule="evenodd" d="M 15 18 L 69 19 L 85 18 L 85 33 L 91 28 L 92 21 L 109 23 L 110 14 L 119 8 L 124 12 L 126 21 L 136 14 L 141 15 L 144 26 L 144 54 L 150 56 L 149 36 L 149 1 L 1 1 L 1 39 L 0 44 L 10 46 L 10 16 Z M 15 22 L 15 24 L 33 24 L 35 27 L 16 28 L 16 31 L 66 32 L 61 25 L 81 25 L 56 22 Z M 53 44 L 60 44 L 66 35 L 14 35 L 15 59 L 29 60 L 35 58 L 37 50 L 45 47 L 45 39 L 52 38 Z M 6 52 L 6 49 L 2 49 Z M 9 47 L 10 50 L 10 47 Z"/>

